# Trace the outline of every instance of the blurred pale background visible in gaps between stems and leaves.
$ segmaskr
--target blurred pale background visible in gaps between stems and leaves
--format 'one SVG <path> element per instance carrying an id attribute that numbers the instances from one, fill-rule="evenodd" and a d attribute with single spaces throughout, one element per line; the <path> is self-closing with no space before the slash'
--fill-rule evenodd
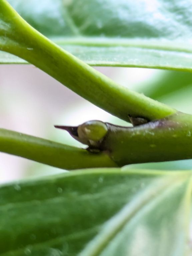
<path id="1" fill-rule="evenodd" d="M 97 67 L 117 83 L 192 114 L 192 74 L 142 68 Z M 114 102 L 115 104 L 115 102 Z M 54 124 L 79 125 L 99 119 L 126 122 L 99 109 L 32 65 L 0 65 L 0 127 L 80 146 Z M 192 160 L 130 165 L 129 168 L 191 169 Z M 0 183 L 64 170 L 0 153 Z"/>

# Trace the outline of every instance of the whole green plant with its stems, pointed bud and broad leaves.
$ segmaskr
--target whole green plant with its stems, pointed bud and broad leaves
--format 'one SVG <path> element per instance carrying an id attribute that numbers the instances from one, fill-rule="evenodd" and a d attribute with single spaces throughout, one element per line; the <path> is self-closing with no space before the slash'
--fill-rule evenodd
<path id="1" fill-rule="evenodd" d="M 42 1 L 45 12 L 39 16 L 30 11 L 34 1 L 9 2 L 58 45 L 72 53 L 78 47 L 88 64 L 176 70 L 169 76 L 176 89 L 182 86 L 174 80 L 179 71 L 191 71 L 189 1 L 159 0 L 149 8 L 147 1 L 50 0 Z M 56 13 L 52 26 L 46 23 L 47 6 Z M 1 63 L 30 62 L 134 126 L 89 122 L 75 132 L 65 127 L 89 150 L 1 129 L 0 151 L 77 170 L 1 187 L 0 254 L 190 254 L 191 171 L 123 166 L 192 158 L 192 116 L 117 85 L 33 27 L 0 0 Z M 188 74 L 183 77 L 187 84 Z M 161 93 L 175 89 L 167 80 Z"/>

